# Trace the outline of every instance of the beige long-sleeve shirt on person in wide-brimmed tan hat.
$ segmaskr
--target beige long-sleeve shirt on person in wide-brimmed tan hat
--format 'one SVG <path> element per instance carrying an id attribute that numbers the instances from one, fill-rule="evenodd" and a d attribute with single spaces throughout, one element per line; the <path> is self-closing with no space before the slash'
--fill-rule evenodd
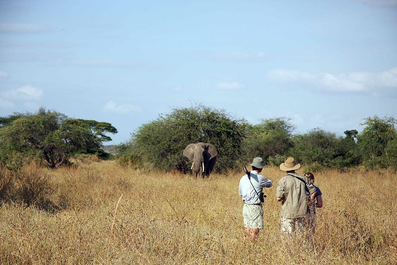
<path id="1" fill-rule="evenodd" d="M 299 177 L 303 181 L 297 179 Z M 296 173 L 288 173 L 278 181 L 276 197 L 281 201 L 281 216 L 284 218 L 303 217 L 307 213 L 307 198 L 305 194 L 305 183 L 310 194 L 316 191 L 316 187 L 307 177 Z"/>

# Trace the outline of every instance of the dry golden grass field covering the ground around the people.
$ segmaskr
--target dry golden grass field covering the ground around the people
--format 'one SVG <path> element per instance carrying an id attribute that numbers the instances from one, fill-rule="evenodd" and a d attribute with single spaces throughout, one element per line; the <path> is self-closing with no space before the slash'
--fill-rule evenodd
<path id="1" fill-rule="evenodd" d="M 195 179 L 95 162 L 47 173 L 54 211 L 1 206 L 1 264 L 397 263 L 397 179 L 388 171 L 316 174 L 324 208 L 310 250 L 280 240 L 275 168 L 263 172 L 274 183 L 265 228 L 246 246 L 242 172 Z"/>

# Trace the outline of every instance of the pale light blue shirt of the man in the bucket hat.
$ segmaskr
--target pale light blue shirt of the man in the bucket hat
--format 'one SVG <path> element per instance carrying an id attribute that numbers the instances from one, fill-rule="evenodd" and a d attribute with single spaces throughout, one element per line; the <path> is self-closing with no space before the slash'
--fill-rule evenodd
<path id="1" fill-rule="evenodd" d="M 242 196 L 245 204 L 261 203 L 261 200 L 259 199 L 255 190 L 258 192 L 259 195 L 261 195 L 262 189 L 264 187 L 266 188 L 271 187 L 271 180 L 265 178 L 256 171 L 251 171 L 251 182 L 252 185 L 250 183 L 250 179 L 248 179 L 248 176 L 244 175 L 240 179 L 239 194 L 240 196 Z M 255 190 L 252 186 L 255 187 Z"/>

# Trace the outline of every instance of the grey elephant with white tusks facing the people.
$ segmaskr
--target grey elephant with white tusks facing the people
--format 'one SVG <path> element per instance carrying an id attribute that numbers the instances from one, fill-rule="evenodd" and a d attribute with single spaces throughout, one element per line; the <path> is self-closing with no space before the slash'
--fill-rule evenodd
<path id="1" fill-rule="evenodd" d="M 193 162 L 191 170 L 193 175 L 209 176 L 214 168 L 218 152 L 215 146 L 207 143 L 197 143 L 188 145 L 183 151 L 183 155 Z M 201 171 L 200 171 L 201 167 Z"/>

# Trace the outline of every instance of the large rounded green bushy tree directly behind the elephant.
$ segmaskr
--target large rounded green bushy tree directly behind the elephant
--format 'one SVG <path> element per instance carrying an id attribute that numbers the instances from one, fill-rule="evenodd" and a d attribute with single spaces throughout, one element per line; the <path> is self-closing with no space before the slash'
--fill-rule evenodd
<path id="1" fill-rule="evenodd" d="M 245 123 L 224 110 L 198 106 L 174 109 L 140 126 L 120 149 L 120 159 L 150 164 L 161 170 L 187 172 L 190 163 L 182 152 L 188 144 L 206 142 L 218 151 L 214 171 L 235 165 L 245 136 Z"/>

